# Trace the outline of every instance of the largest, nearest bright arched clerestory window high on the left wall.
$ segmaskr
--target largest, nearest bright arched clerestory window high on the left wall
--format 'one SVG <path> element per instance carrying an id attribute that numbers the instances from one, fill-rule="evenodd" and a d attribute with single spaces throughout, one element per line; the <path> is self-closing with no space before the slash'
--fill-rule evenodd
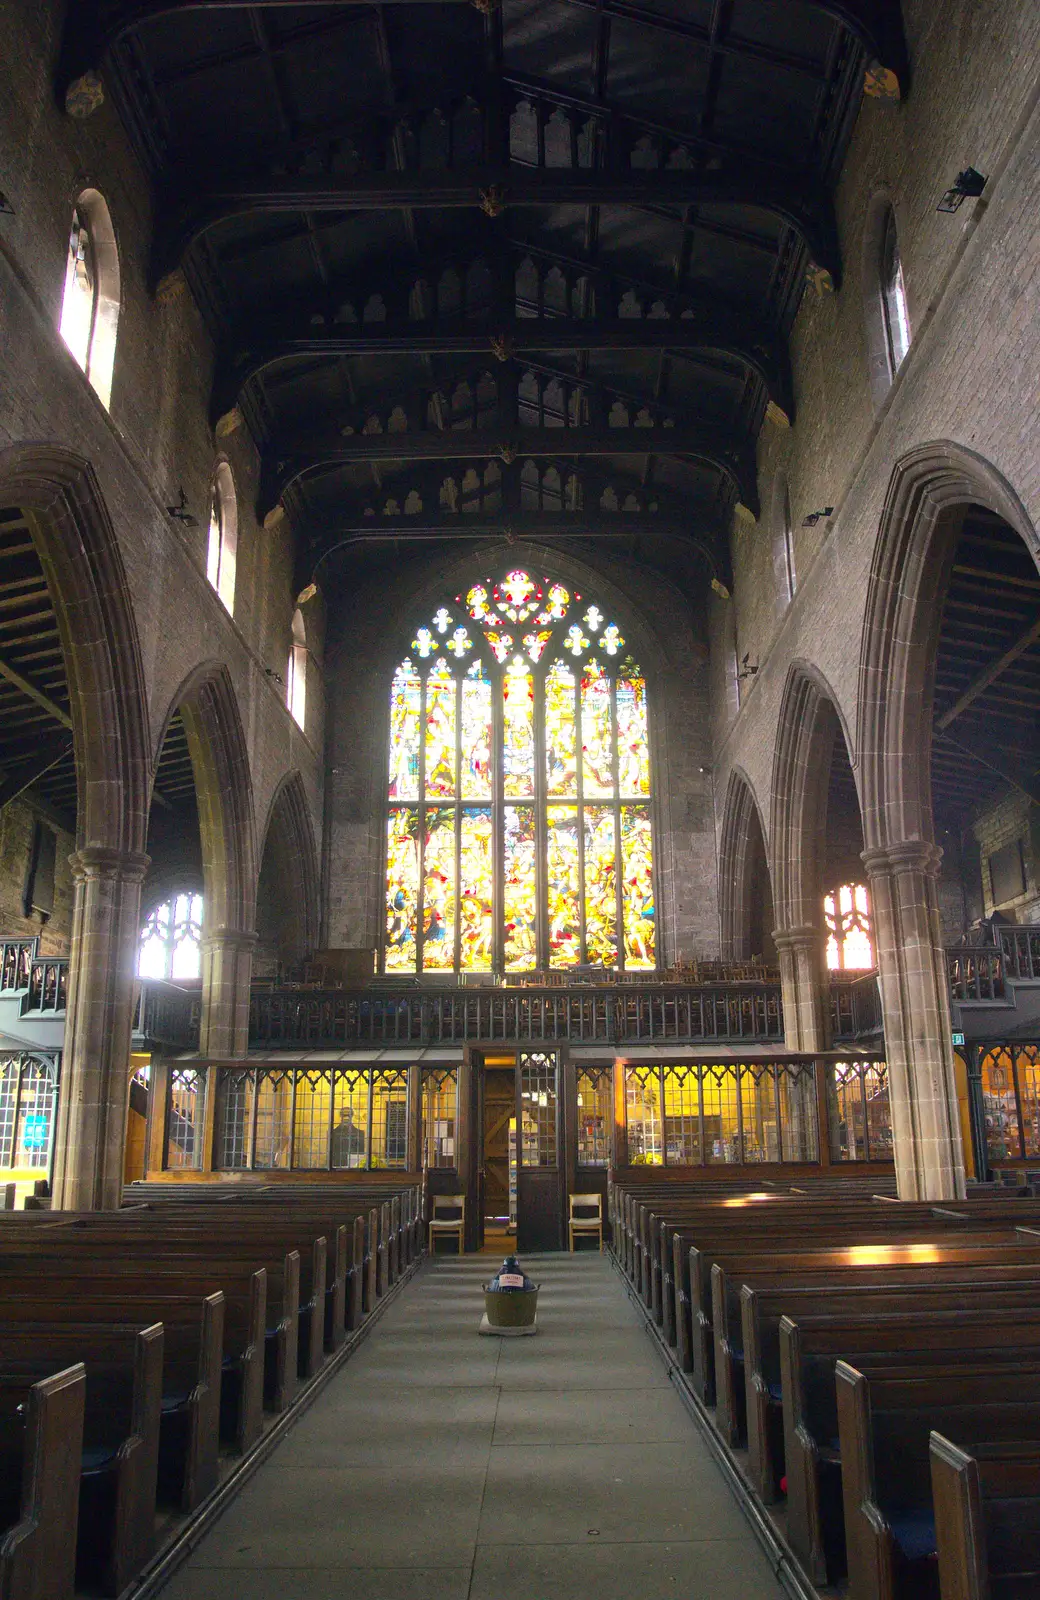
<path id="1" fill-rule="evenodd" d="M 112 400 L 118 307 L 112 218 L 98 190 L 85 189 L 72 213 L 59 331 L 106 408 Z"/>

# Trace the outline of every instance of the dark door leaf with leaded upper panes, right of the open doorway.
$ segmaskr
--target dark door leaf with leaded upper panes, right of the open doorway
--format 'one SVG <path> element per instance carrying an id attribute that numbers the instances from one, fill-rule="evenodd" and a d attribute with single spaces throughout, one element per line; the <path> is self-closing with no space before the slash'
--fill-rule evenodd
<path id="1" fill-rule="evenodd" d="M 563 1117 L 560 1053 L 517 1053 L 517 1250 L 562 1250 Z"/>

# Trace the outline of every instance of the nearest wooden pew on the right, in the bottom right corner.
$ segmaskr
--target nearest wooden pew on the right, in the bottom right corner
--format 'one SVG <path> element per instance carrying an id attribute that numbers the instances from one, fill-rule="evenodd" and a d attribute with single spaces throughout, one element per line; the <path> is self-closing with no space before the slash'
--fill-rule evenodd
<path id="1" fill-rule="evenodd" d="M 928 1454 L 942 1600 L 1040 1594 L 1040 1445 L 984 1443 L 968 1453 L 933 1432 Z"/>

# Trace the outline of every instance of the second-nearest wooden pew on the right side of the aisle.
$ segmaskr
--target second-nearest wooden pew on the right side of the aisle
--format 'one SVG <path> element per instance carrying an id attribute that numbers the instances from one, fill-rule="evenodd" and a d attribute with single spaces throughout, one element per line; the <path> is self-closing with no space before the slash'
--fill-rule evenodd
<path id="1" fill-rule="evenodd" d="M 1040 1442 L 1040 1368 L 869 1378 L 838 1362 L 838 1442 L 850 1600 L 896 1600 L 934 1573 L 930 1437 Z M 910 1592 L 914 1592 L 910 1587 Z"/>

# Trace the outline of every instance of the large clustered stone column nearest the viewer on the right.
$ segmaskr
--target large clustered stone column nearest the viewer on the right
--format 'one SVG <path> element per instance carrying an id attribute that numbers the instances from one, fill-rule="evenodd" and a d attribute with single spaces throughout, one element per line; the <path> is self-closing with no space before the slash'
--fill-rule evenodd
<path id="1" fill-rule="evenodd" d="M 864 850 L 901 1200 L 955 1200 L 965 1163 L 939 938 L 942 851 L 920 838 Z"/>

